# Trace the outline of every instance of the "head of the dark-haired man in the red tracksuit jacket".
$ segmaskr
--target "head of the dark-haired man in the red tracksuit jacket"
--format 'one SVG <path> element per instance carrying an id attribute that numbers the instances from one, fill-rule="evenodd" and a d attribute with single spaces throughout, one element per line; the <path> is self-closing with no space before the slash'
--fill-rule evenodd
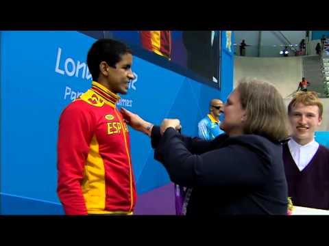
<path id="1" fill-rule="evenodd" d="M 132 51 L 122 42 L 103 38 L 88 51 L 87 64 L 93 81 L 114 93 L 126 94 L 132 73 Z"/>

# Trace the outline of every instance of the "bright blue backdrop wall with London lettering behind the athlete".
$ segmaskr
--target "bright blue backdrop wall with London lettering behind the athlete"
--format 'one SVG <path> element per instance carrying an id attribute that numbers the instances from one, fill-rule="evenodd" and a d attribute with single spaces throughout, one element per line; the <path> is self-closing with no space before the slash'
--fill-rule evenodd
<path id="1" fill-rule="evenodd" d="M 58 119 L 90 87 L 86 54 L 93 42 L 77 31 L 1 31 L 1 214 L 63 213 L 56 194 Z M 232 51 L 222 50 L 221 91 L 134 56 L 137 79 L 119 106 L 156 124 L 180 118 L 183 133 L 197 135 L 209 100 L 226 100 L 232 90 Z M 138 195 L 169 184 L 148 137 L 130 134 Z"/>

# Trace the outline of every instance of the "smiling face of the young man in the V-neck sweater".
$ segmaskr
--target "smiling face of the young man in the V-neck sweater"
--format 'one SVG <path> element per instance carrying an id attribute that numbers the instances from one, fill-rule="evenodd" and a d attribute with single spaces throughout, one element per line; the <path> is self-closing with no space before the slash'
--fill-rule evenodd
<path id="1" fill-rule="evenodd" d="M 319 116 L 319 107 L 305 106 L 301 102 L 291 108 L 289 113 L 292 137 L 305 145 L 314 138 L 314 132 L 317 126 L 321 125 L 322 118 Z"/>

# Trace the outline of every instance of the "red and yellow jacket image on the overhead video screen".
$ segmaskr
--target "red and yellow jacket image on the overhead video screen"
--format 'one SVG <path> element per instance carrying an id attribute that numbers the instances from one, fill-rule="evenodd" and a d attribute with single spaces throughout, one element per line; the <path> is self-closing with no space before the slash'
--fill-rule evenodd
<path id="1" fill-rule="evenodd" d="M 147 51 L 171 59 L 171 31 L 139 31 L 141 44 Z"/>

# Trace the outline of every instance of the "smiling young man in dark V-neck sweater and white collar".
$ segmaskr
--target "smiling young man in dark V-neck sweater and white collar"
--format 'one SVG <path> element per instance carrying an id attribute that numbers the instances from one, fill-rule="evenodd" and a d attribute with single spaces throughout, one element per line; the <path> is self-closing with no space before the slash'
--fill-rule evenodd
<path id="1" fill-rule="evenodd" d="M 322 112 L 316 92 L 297 92 L 288 106 L 292 134 L 282 146 L 282 156 L 293 204 L 328 210 L 329 149 L 314 138 Z"/>

